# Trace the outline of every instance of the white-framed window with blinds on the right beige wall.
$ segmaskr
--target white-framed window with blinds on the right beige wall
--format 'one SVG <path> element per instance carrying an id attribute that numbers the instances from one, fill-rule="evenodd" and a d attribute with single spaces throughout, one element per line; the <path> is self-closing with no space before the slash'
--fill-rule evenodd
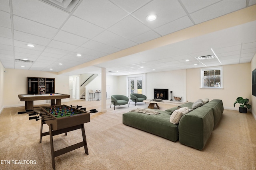
<path id="1" fill-rule="evenodd" d="M 223 88 L 222 68 L 202 69 L 201 88 Z"/>

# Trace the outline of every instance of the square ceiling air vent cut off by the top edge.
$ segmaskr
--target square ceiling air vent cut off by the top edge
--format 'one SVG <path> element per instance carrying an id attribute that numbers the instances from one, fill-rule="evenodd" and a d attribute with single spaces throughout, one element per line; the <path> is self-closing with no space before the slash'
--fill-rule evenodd
<path id="1" fill-rule="evenodd" d="M 70 13 L 72 12 L 72 10 L 75 8 L 76 4 L 78 4 L 80 0 L 42 0 L 42 1 Z"/>

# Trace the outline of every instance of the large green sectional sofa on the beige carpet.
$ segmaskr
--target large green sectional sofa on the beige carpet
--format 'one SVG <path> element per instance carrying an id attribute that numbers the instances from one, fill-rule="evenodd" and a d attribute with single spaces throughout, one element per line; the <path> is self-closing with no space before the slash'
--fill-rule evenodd
<path id="1" fill-rule="evenodd" d="M 192 109 L 193 104 L 189 102 L 178 107 Z M 170 123 L 170 117 L 177 109 L 157 110 L 160 114 L 156 115 L 130 111 L 123 114 L 123 124 L 202 150 L 221 119 L 224 110 L 222 100 L 214 99 L 183 115 L 178 124 Z"/>

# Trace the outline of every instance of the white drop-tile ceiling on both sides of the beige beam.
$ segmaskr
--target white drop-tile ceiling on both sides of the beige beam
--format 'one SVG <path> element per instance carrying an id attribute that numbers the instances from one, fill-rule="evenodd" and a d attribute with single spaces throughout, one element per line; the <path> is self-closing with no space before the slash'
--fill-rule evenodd
<path id="1" fill-rule="evenodd" d="M 43 0 L 0 1 L 0 62 L 5 68 L 60 72 L 256 4 L 256 0 L 49 1 L 61 6 L 71 2 L 72 8 L 62 10 Z M 156 14 L 157 20 L 147 21 L 149 14 Z M 204 65 L 195 59 L 211 55 L 211 48 L 222 64 L 248 63 L 256 52 L 256 31 L 252 30 L 255 22 L 68 74 L 98 73 L 100 67 L 113 75 L 126 75 L 220 65 L 218 60 L 204 61 Z"/>

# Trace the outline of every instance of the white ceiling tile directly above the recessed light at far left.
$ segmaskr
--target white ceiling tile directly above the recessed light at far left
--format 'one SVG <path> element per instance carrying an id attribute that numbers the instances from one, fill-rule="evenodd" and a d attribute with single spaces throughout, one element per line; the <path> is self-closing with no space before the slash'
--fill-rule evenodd
<path id="1" fill-rule="evenodd" d="M 50 43 L 50 39 L 44 38 L 44 37 L 39 37 L 36 35 L 20 32 L 14 30 L 14 39 L 19 40 L 19 41 L 25 41 L 28 43 L 32 43 L 33 45 L 43 45 L 46 46 L 48 43 Z"/>

